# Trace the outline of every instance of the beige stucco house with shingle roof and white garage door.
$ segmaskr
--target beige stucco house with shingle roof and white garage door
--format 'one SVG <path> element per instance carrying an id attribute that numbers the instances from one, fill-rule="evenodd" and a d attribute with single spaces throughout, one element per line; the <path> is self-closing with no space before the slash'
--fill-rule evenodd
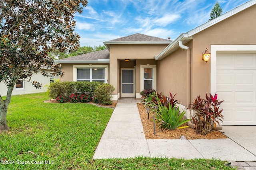
<path id="1" fill-rule="evenodd" d="M 251 0 L 174 41 L 134 34 L 103 42 L 108 50 L 57 61 L 66 73 L 61 81 L 104 80 L 115 87 L 114 101 L 154 88 L 177 94 L 184 108 L 217 93 L 223 125 L 256 125 L 255 16 Z"/>

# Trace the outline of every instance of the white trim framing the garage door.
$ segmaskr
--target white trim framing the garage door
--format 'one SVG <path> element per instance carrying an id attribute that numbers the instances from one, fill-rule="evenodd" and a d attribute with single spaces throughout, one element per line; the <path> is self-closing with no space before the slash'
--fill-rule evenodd
<path id="1" fill-rule="evenodd" d="M 256 45 L 211 45 L 211 94 L 216 93 L 216 70 L 217 70 L 217 52 L 229 51 L 229 52 L 256 52 Z"/>

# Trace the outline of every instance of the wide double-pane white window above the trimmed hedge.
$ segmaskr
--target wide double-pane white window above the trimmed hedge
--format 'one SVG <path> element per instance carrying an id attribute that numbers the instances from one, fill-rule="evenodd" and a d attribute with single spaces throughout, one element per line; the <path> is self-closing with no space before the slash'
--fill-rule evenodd
<path id="1" fill-rule="evenodd" d="M 74 66 L 76 72 L 75 81 L 88 81 L 88 82 L 107 82 L 107 66 L 83 66 L 84 68 L 77 68 L 81 66 Z"/>

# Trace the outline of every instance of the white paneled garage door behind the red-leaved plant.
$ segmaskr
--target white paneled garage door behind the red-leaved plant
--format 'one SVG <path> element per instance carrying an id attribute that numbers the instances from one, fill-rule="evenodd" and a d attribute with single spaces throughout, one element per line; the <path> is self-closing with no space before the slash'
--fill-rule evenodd
<path id="1" fill-rule="evenodd" d="M 256 125 L 256 54 L 217 53 L 216 64 L 222 125 Z"/>

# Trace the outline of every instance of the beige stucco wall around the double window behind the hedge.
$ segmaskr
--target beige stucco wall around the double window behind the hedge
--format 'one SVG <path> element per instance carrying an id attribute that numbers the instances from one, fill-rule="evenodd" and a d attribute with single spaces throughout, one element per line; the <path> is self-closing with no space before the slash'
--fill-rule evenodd
<path id="1" fill-rule="evenodd" d="M 64 76 L 60 77 L 60 82 L 72 82 L 74 81 L 73 77 L 73 66 L 74 65 L 108 65 L 108 82 L 109 82 L 109 63 L 61 63 L 61 69 L 64 72 Z"/>

